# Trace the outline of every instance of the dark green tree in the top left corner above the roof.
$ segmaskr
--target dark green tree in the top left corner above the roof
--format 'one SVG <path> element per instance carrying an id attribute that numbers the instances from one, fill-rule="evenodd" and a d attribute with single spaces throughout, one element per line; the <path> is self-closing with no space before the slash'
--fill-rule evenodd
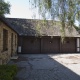
<path id="1" fill-rule="evenodd" d="M 10 4 L 8 2 L 5 2 L 4 0 L 0 0 L 0 16 L 9 14 L 9 12 L 10 12 Z"/>

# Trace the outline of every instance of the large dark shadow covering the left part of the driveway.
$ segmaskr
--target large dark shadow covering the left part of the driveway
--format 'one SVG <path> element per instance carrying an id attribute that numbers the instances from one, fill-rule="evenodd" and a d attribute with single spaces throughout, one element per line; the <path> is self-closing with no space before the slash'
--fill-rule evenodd
<path id="1" fill-rule="evenodd" d="M 53 56 L 53 58 L 52 58 Z M 16 64 L 16 80 L 80 80 L 80 75 L 54 59 L 58 54 L 23 54 L 8 64 Z M 75 64 L 76 65 L 76 64 Z M 73 65 L 74 67 L 74 65 Z M 77 69 L 77 67 L 75 67 Z"/>

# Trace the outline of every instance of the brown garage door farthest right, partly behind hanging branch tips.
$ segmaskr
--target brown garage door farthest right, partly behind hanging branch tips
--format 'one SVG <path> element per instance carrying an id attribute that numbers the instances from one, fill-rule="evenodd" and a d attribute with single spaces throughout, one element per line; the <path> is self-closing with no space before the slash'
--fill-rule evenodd
<path id="1" fill-rule="evenodd" d="M 61 43 L 61 52 L 76 52 L 76 39 L 75 38 L 66 38 L 64 43 Z"/>

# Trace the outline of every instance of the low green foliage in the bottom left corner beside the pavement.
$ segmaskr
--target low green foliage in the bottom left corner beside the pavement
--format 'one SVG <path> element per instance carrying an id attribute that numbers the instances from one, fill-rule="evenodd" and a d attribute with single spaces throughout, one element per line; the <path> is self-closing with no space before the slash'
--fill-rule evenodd
<path id="1" fill-rule="evenodd" d="M 13 80 L 17 71 L 16 65 L 0 65 L 0 80 Z"/>

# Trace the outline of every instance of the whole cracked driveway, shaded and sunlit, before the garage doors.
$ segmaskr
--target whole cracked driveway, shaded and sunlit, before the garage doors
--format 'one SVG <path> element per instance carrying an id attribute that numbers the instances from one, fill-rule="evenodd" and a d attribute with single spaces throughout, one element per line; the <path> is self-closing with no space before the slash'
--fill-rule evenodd
<path id="1" fill-rule="evenodd" d="M 80 54 L 18 55 L 18 80 L 80 80 Z"/>

